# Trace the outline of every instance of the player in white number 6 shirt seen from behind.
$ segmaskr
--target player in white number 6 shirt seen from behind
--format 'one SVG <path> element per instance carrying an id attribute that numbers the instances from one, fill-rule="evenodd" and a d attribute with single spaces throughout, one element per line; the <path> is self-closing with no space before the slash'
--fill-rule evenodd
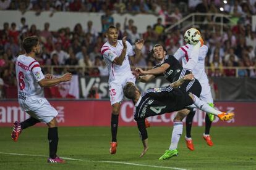
<path id="1" fill-rule="evenodd" d="M 55 86 L 61 82 L 70 81 L 71 73 L 66 73 L 59 78 L 53 75 L 43 75 L 39 63 L 35 60 L 40 54 L 40 43 L 38 38 L 30 36 L 23 39 L 22 47 L 25 54 L 19 55 L 15 63 L 18 84 L 18 98 L 20 107 L 31 117 L 19 123 L 15 121 L 11 137 L 16 142 L 23 129 L 36 123 L 46 123 L 49 140 L 48 163 L 64 163 L 65 161 L 56 155 L 58 149 L 58 123 L 56 116 L 58 112 L 45 99 L 43 87 Z"/>

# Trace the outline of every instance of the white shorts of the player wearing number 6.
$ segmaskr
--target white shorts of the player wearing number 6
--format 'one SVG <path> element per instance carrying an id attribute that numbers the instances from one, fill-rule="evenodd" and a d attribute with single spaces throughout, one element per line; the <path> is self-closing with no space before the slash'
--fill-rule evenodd
<path id="1" fill-rule="evenodd" d="M 58 111 L 45 98 L 27 97 L 26 100 L 19 100 L 19 103 L 28 115 L 42 123 L 49 123 L 58 115 Z"/>

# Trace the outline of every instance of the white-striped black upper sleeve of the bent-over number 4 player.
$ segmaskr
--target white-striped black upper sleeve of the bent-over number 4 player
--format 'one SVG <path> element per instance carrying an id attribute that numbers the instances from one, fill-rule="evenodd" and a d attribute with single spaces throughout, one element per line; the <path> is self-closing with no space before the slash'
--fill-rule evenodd
<path id="1" fill-rule="evenodd" d="M 148 97 L 153 97 L 156 100 L 163 100 L 164 98 L 170 96 L 171 91 L 173 91 L 173 87 L 166 86 L 166 87 L 148 89 L 147 91 L 145 91 L 144 94 Z"/>

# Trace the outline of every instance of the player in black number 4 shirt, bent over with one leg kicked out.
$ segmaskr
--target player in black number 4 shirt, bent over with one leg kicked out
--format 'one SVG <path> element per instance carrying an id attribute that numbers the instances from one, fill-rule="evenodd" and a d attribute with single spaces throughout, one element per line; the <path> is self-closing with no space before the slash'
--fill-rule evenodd
<path id="1" fill-rule="evenodd" d="M 145 127 L 145 118 L 147 117 L 163 115 L 164 113 L 181 110 L 182 108 L 189 106 L 210 112 L 218 116 L 222 121 L 228 121 L 233 118 L 233 113 L 224 113 L 215 110 L 210 107 L 208 103 L 200 100 L 196 95 L 183 91 L 180 88 L 176 88 L 187 80 L 193 81 L 193 79 L 194 77 L 191 76 L 191 74 L 186 75 L 178 81 L 170 84 L 170 86 L 148 89 L 142 94 L 134 84 L 126 84 L 124 87 L 124 95 L 134 102 L 134 119 L 137 121 L 137 126 L 143 144 L 143 152 L 140 154 L 140 157 L 145 155 L 148 150 L 148 135 Z M 186 114 L 175 116 L 172 143 L 170 146 L 172 149 L 166 150 L 166 153 L 160 157 L 160 160 L 165 160 L 178 154 L 177 144 L 182 134 L 182 119 L 185 116 Z"/>

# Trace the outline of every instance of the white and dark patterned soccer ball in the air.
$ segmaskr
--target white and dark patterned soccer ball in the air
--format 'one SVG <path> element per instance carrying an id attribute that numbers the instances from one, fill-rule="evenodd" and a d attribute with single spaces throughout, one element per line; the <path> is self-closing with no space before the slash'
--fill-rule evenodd
<path id="1" fill-rule="evenodd" d="M 191 45 L 197 44 L 197 42 L 200 41 L 200 38 L 201 33 L 195 28 L 190 28 L 184 34 L 184 40 Z"/>

